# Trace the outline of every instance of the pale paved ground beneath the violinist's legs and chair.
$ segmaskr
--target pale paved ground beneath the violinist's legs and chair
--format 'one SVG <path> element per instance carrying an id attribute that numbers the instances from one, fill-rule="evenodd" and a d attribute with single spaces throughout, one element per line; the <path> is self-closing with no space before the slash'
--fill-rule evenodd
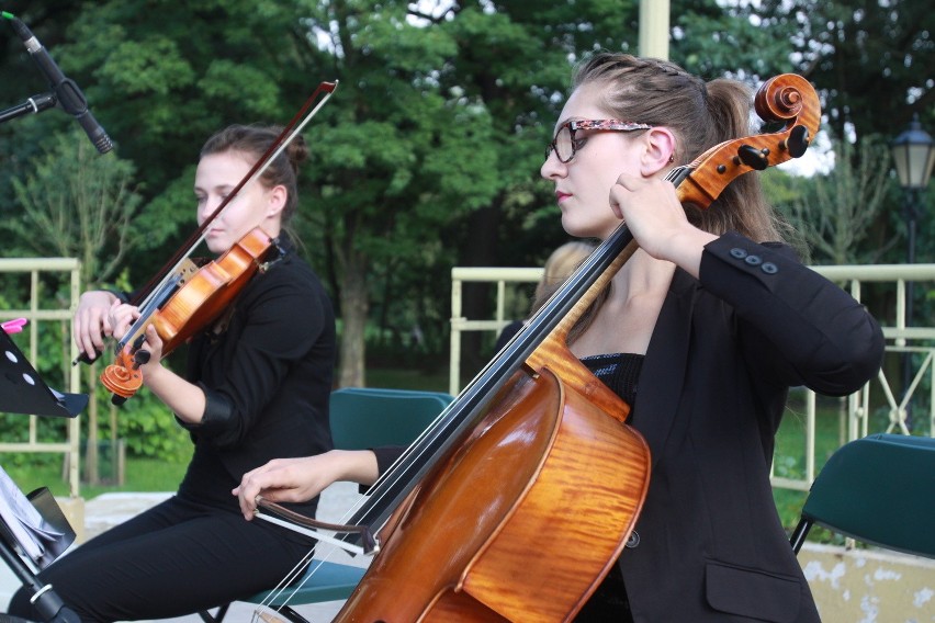
<path id="1" fill-rule="evenodd" d="M 85 531 L 87 537 L 94 536 L 112 525 L 133 517 L 134 514 L 164 500 L 169 494 L 104 494 L 85 505 Z M 350 483 L 336 483 L 322 496 L 318 506 L 318 517 L 323 521 L 339 521 L 357 500 L 357 485 Z M 335 552 L 333 547 L 323 545 L 317 547 L 316 557 L 328 557 L 330 560 L 346 564 L 362 564 L 367 560 L 361 557 L 351 558 L 343 552 Z M 67 554 L 66 554 L 67 555 Z M 20 584 L 16 576 L 0 563 L 0 609 L 9 601 Z M 340 610 L 341 602 L 333 601 L 312 605 L 298 605 L 295 610 L 312 623 L 328 623 Z M 235 603 L 227 612 L 225 622 L 241 623 L 255 620 L 255 607 L 248 603 Z M 201 618 L 196 614 L 177 619 L 164 619 L 162 623 L 200 623 Z"/>

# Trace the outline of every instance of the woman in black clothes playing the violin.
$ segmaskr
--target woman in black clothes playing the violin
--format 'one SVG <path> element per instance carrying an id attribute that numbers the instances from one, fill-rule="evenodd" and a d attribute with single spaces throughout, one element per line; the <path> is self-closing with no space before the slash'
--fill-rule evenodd
<path id="1" fill-rule="evenodd" d="M 275 140 L 278 128 L 232 126 L 204 145 L 194 192 L 201 224 Z M 257 181 L 245 185 L 206 237 L 227 251 L 256 227 L 271 237 L 297 205 L 301 137 Z M 308 553 L 311 541 L 267 522 L 247 523 L 230 489 L 274 456 L 331 448 L 328 395 L 335 361 L 329 298 L 293 252 L 255 275 L 214 326 L 196 336 L 180 376 L 161 362 L 150 326 L 144 385 L 189 430 L 194 454 L 176 496 L 64 556 L 41 577 L 82 621 L 164 619 L 228 603 L 274 586 Z M 121 337 L 138 316 L 109 292 L 87 292 L 75 316 L 78 347 L 93 358 L 103 338 Z M 296 317 L 301 316 L 301 321 Z M 306 501 L 308 500 L 308 501 Z M 293 510 L 314 516 L 309 496 Z M 11 613 L 34 615 L 21 591 Z"/>

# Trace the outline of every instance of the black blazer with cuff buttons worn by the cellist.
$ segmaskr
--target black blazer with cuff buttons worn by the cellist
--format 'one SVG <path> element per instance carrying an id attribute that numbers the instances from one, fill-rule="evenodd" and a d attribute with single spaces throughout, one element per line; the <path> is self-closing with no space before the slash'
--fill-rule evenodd
<path id="1" fill-rule="evenodd" d="M 769 484 L 788 388 L 857 390 L 877 322 L 787 247 L 728 234 L 700 282 L 677 270 L 650 342 L 633 427 L 652 452 L 639 543 L 620 556 L 635 621 L 818 621 Z"/>

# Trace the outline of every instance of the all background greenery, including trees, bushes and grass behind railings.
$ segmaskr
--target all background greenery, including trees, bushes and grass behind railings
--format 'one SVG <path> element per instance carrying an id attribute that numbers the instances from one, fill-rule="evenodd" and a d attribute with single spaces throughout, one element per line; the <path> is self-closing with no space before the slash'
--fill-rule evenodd
<path id="1" fill-rule="evenodd" d="M 116 145 L 99 156 L 60 111 L 0 124 L 0 254 L 77 257 L 82 288 L 140 286 L 193 229 L 204 139 L 230 123 L 285 123 L 318 82 L 339 80 L 304 135 L 312 158 L 295 224 L 339 317 L 336 385 L 448 390 L 451 268 L 538 267 L 565 241 L 538 175 L 543 147 L 573 64 L 597 49 L 638 52 L 639 4 L 0 0 L 82 87 Z M 935 127 L 935 12 L 912 0 L 672 0 L 671 15 L 671 57 L 689 71 L 752 89 L 791 71 L 818 89 L 823 126 L 808 163 L 762 173 L 810 261 L 901 262 L 903 202 L 887 141 L 913 115 Z M 5 32 L 0 107 L 47 89 Z M 916 259 L 932 262 L 933 200 L 923 201 Z M 67 283 L 44 279 L 44 299 L 67 307 Z M 24 306 L 27 281 L 4 276 L 0 308 Z M 917 322 L 932 326 L 932 294 L 915 294 Z M 492 287 L 464 296 L 467 317 L 489 315 Z M 892 296 L 864 301 L 882 315 Z M 68 327 L 38 339 L 34 364 L 63 387 Z M 467 377 L 492 344 L 465 337 Z M 122 488 L 173 488 L 190 453 L 184 432 L 147 393 L 115 411 L 97 392 L 99 371 L 82 370 L 93 414 L 82 434 L 125 441 Z M 0 416 L 0 439 L 20 439 L 24 422 Z M 793 407 L 777 471 L 802 469 L 799 424 Z M 833 405 L 819 424 L 821 448 L 835 448 Z M 60 435 L 61 422 L 38 427 L 41 439 Z M 63 490 L 60 455 L 4 455 L 3 466 L 25 490 Z M 82 495 L 113 490 L 94 482 Z M 801 496 L 780 491 L 777 503 L 786 521 Z"/>

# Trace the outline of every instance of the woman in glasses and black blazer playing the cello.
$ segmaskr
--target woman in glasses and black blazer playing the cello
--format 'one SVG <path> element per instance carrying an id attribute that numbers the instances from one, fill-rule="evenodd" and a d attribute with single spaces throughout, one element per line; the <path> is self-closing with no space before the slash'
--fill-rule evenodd
<path id="1" fill-rule="evenodd" d="M 773 501 L 774 435 L 789 387 L 858 389 L 883 339 L 781 242 L 755 174 L 706 212 L 664 181 L 675 163 L 747 136 L 748 118 L 737 82 L 600 54 L 579 67 L 547 150 L 541 174 L 564 229 L 604 239 L 622 219 L 639 243 L 568 339 L 632 407 L 628 423 L 652 456 L 635 532 L 579 621 L 819 621 Z M 334 480 L 372 484 L 396 454 L 274 461 L 235 492 L 249 519 L 257 494 L 302 500 Z"/>

